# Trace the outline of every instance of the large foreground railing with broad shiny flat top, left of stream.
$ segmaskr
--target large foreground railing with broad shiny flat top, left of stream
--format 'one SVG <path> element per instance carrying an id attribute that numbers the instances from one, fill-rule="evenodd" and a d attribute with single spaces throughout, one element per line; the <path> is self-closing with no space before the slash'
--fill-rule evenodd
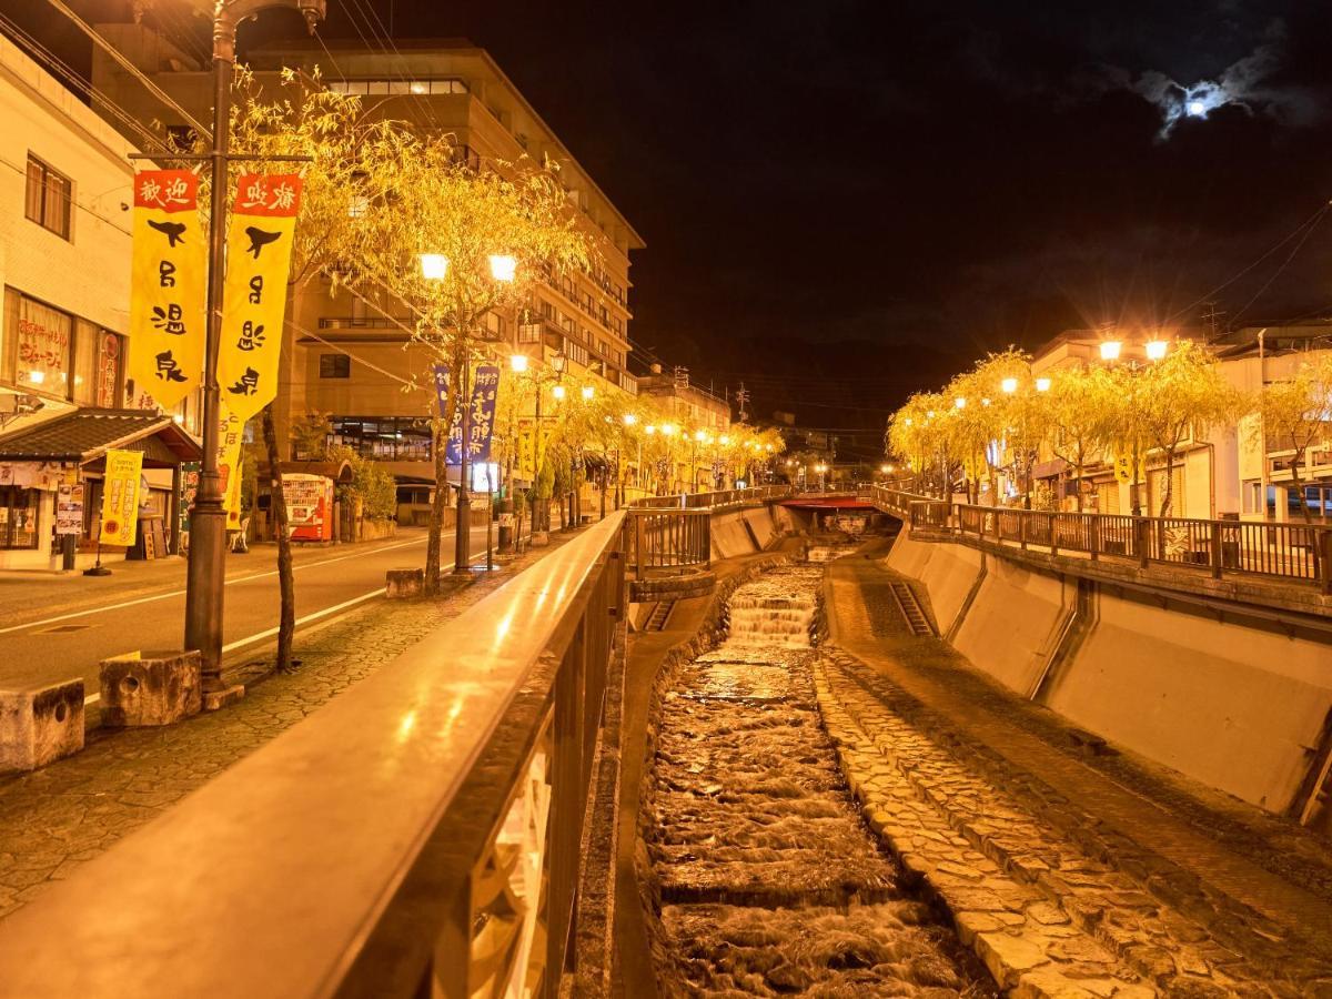
<path id="1" fill-rule="evenodd" d="M 601 738 L 623 525 L 550 553 L 11 915 L 0 991 L 553 998 L 587 975 L 579 879 L 589 855 L 614 866 L 585 817 L 617 757 Z"/>

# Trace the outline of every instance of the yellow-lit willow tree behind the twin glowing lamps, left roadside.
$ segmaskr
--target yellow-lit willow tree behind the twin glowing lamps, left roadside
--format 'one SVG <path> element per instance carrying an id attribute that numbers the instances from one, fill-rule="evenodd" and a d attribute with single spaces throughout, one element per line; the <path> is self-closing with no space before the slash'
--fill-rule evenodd
<path id="1" fill-rule="evenodd" d="M 413 309 L 414 340 L 453 376 L 434 414 L 436 498 L 426 542 L 426 590 L 434 593 L 448 492 L 445 444 L 458 398 L 469 392 L 458 374 L 477 357 L 492 312 L 522 305 L 549 278 L 586 270 L 594 250 L 559 181 L 526 159 L 476 169 L 448 141 L 422 141 L 398 159 L 393 189 L 392 206 L 376 213 L 365 257 Z"/>

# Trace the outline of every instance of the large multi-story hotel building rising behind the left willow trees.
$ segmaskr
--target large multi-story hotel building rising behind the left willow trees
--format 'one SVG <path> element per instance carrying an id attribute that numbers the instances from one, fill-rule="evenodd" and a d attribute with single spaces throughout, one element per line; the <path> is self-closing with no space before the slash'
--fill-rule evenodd
<path id="1" fill-rule="evenodd" d="M 200 117 L 208 113 L 205 65 L 144 25 L 99 29 L 186 109 Z M 308 73 L 317 67 L 330 89 L 362 95 L 374 115 L 450 135 L 458 156 L 478 166 L 523 156 L 558 164 L 559 182 L 591 234 L 599 262 L 591 273 L 542 284 L 523 309 L 492 314 L 496 354 L 521 352 L 539 365 L 561 353 L 570 372 L 605 390 L 635 393 L 637 380 L 627 368 L 629 268 L 630 253 L 643 241 L 490 55 L 461 40 L 397 40 L 393 53 L 329 45 L 252 49 L 242 59 L 261 85 L 272 85 L 284 67 Z M 135 117 L 182 127 L 113 61 L 96 57 L 93 80 Z M 309 282 L 292 309 L 274 416 L 284 437 L 306 414 L 326 417 L 333 442 L 378 460 L 404 490 L 416 485 L 416 498 L 424 500 L 434 481 L 433 358 L 409 346 L 413 325 L 401 302 L 334 292 L 326 278 Z"/>

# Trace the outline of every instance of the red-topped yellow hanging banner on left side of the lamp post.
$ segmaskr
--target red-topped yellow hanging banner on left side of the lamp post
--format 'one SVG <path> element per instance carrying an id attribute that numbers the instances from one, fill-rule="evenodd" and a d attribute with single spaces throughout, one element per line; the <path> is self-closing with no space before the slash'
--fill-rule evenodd
<path id="1" fill-rule="evenodd" d="M 189 170 L 135 174 L 129 269 L 129 376 L 163 409 L 202 384 L 208 240 L 198 177 Z"/>

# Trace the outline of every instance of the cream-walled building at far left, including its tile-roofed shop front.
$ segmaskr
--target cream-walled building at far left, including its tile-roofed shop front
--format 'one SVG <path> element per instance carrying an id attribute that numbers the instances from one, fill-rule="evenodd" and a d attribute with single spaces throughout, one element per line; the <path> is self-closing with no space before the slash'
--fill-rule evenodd
<path id="1" fill-rule="evenodd" d="M 0 569 L 91 545 L 108 448 L 144 453 L 141 513 L 169 539 L 172 469 L 198 449 L 184 413 L 121 409 L 133 147 L 5 37 L 0 132 Z"/>

